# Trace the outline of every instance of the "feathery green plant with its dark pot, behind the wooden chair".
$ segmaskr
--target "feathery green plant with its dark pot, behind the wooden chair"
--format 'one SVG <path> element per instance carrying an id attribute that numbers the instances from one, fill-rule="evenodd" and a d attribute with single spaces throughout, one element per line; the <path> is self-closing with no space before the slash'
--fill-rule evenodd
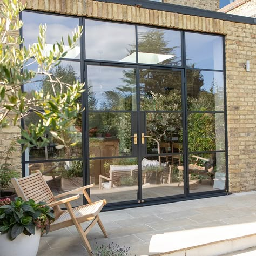
<path id="1" fill-rule="evenodd" d="M 12 141 L 5 153 L 3 163 L 0 165 L 0 200 L 7 197 L 14 200 L 14 198 L 17 197 L 14 189 L 10 190 L 11 178 L 19 177 L 19 173 L 12 170 L 12 165 L 10 164 L 11 155 L 16 151 L 14 144 L 15 141 Z"/>

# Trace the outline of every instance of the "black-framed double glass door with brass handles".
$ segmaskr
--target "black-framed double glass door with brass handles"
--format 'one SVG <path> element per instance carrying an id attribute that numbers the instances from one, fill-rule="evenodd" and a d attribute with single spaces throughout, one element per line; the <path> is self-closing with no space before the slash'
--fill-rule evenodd
<path id="1" fill-rule="evenodd" d="M 184 194 L 183 70 L 87 66 L 92 198 Z"/>

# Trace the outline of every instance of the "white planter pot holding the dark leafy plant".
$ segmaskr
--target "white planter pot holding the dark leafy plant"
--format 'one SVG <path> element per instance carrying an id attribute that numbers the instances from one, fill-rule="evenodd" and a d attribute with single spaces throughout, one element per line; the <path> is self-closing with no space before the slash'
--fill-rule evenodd
<path id="1" fill-rule="evenodd" d="M 1 256 L 36 256 L 41 230 L 36 228 L 35 235 L 20 234 L 11 241 L 7 234 L 0 232 L 0 255 Z"/>

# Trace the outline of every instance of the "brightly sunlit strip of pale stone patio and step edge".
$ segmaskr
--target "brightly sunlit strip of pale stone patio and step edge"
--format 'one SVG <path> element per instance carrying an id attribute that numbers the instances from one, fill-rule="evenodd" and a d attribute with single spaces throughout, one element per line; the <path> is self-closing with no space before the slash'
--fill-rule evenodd
<path id="1" fill-rule="evenodd" d="M 153 255 L 220 256 L 254 246 L 256 223 L 251 222 L 156 234 L 151 238 L 149 251 L 158 252 Z"/>

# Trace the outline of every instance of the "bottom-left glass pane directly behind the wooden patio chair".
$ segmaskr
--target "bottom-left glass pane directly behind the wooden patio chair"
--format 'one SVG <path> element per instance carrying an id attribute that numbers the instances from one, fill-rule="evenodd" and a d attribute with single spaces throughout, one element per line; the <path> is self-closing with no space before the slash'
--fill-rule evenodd
<path id="1" fill-rule="evenodd" d="M 53 196 L 83 186 L 83 162 L 62 161 L 25 164 L 25 176 L 40 170 L 50 187 Z M 71 201 L 73 207 L 83 205 L 83 192 L 77 192 L 80 198 Z M 61 205 L 65 207 L 65 205 Z"/>

